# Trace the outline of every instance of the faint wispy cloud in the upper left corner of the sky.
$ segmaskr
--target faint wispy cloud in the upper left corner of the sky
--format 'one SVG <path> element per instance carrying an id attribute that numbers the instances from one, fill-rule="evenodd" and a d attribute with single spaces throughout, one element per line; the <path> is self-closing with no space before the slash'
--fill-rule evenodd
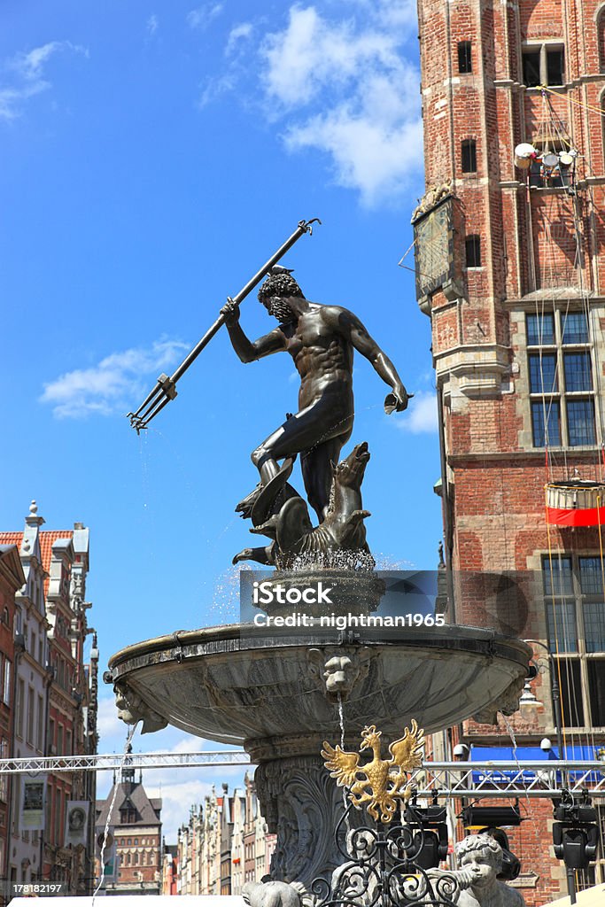
<path id="1" fill-rule="evenodd" d="M 54 54 L 63 51 L 88 56 L 88 51 L 80 44 L 50 41 L 5 61 L 4 68 L 10 73 L 12 83 L 0 86 L 0 121 L 15 120 L 21 115 L 25 101 L 51 87 L 51 83 L 44 78 L 44 68 Z"/>

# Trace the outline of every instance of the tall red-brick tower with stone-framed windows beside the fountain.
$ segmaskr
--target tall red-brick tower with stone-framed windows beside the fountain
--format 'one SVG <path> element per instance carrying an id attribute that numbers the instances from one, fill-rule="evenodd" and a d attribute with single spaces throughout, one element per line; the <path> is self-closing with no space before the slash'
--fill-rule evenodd
<path id="1" fill-rule="evenodd" d="M 418 0 L 418 14 L 416 295 L 432 323 L 449 607 L 461 622 L 537 640 L 541 705 L 511 719 L 517 756 L 540 753 L 544 737 L 556 751 L 556 679 L 564 755 L 595 758 L 605 741 L 605 4 Z M 498 589 L 511 587 L 522 595 L 503 607 Z M 478 759 L 482 747 L 503 758 L 512 746 L 502 717 L 454 728 L 454 744 Z M 566 888 L 551 803 L 526 806 L 511 842 L 529 905 Z M 601 844 L 578 883 L 605 881 L 604 861 Z"/>

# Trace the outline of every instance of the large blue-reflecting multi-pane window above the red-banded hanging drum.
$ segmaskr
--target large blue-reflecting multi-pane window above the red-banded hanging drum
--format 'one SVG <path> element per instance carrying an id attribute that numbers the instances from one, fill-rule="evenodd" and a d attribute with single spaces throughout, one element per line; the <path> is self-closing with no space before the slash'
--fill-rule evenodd
<path id="1" fill-rule="evenodd" d="M 526 327 L 533 446 L 596 444 L 586 313 L 528 314 Z"/>

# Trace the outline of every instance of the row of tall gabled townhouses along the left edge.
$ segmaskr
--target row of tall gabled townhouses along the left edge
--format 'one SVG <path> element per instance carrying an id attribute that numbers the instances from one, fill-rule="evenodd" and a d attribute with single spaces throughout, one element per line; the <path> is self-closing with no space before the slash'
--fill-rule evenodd
<path id="1" fill-rule="evenodd" d="M 24 581 L 15 591 L 15 715 L 11 756 L 96 753 L 96 639 L 84 663 L 84 601 L 89 531 L 45 532 L 35 502 L 23 532 L 0 532 L 15 545 Z M 7 643 L 0 637 L 3 658 Z M 94 773 L 15 775 L 10 796 L 8 882 L 53 880 L 68 892 L 93 891 Z M 71 817 L 71 822 L 70 822 Z"/>

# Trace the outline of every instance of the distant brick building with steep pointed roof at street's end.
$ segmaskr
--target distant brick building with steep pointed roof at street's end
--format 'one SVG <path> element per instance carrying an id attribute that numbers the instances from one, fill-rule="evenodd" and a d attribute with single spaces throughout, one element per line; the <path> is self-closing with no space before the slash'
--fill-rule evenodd
<path id="1" fill-rule="evenodd" d="M 114 794 L 115 803 L 110 814 Z M 147 795 L 142 774 L 136 781 L 133 768 L 124 767 L 120 776 L 114 777 L 107 799 L 97 801 L 97 867 L 100 866 L 102 836 L 108 819 L 112 829 L 112 840 L 108 844 L 115 848 L 115 860 L 112 871 L 105 872 L 103 887 L 106 893 L 161 894 L 161 799 Z"/>

